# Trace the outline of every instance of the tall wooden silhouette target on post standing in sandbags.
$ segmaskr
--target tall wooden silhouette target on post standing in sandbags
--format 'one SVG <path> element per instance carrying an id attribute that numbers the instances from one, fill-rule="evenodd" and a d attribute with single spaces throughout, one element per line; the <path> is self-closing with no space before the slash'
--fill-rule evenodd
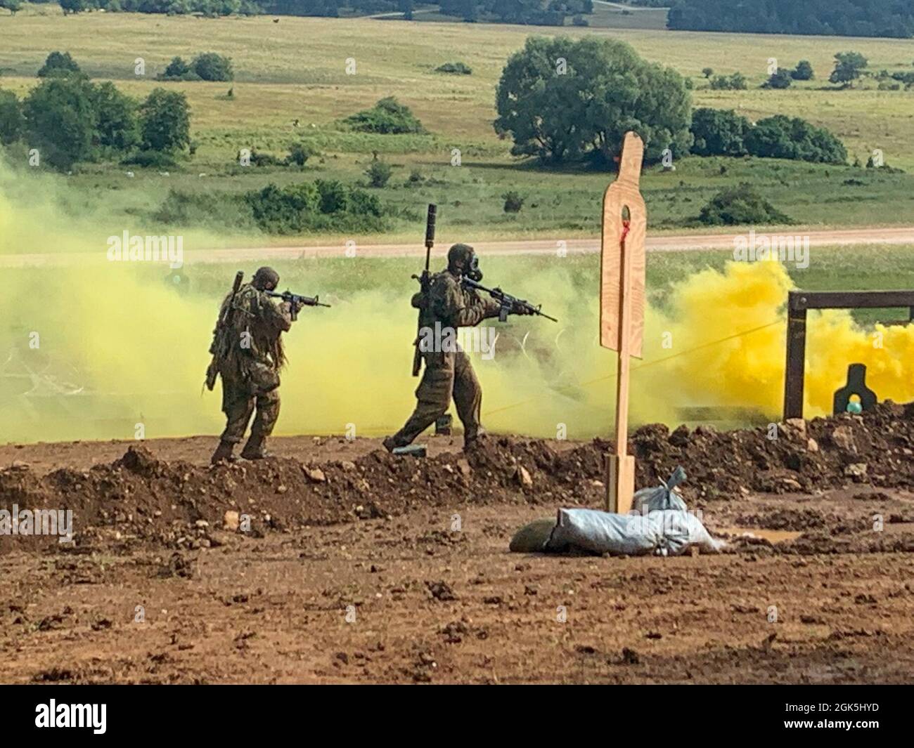
<path id="1" fill-rule="evenodd" d="M 647 211 L 638 189 L 644 144 L 626 132 L 619 176 L 603 195 L 600 248 L 600 345 L 619 353 L 616 377 L 616 453 L 607 455 L 606 511 L 632 509 L 634 458 L 628 454 L 629 369 L 642 356 L 644 236 Z"/>

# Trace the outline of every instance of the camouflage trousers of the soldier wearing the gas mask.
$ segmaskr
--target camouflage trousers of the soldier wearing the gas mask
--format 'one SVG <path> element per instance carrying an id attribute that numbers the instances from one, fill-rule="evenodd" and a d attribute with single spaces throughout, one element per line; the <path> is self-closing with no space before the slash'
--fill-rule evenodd
<path id="1" fill-rule="evenodd" d="M 466 353 L 423 353 L 425 371 L 416 389 L 416 409 L 393 436 L 397 447 L 411 444 L 426 428 L 443 416 L 453 396 L 463 424 L 463 442 L 476 438 L 480 430 L 479 411 L 483 390 Z"/>

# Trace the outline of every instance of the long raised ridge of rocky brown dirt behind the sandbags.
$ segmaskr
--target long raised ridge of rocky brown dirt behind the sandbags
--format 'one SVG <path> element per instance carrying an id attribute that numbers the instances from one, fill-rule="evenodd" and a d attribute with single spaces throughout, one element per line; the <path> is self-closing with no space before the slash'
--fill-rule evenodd
<path id="1" fill-rule="evenodd" d="M 791 420 L 771 428 L 717 432 L 663 425 L 630 440 L 637 485 L 656 485 L 677 465 L 688 473 L 686 502 L 739 499 L 751 492 L 809 492 L 862 484 L 914 487 L 914 405 L 885 403 L 864 416 Z M 245 518 L 255 536 L 336 522 L 384 518 L 429 506 L 464 504 L 600 506 L 604 455 L 595 439 L 555 450 L 537 439 L 485 437 L 466 453 L 416 459 L 373 451 L 354 461 L 302 463 L 293 458 L 201 466 L 157 458 L 131 447 L 107 465 L 58 469 L 43 477 L 27 466 L 0 470 L 0 508 L 73 511 L 76 548 L 152 542 L 170 548 L 220 543 L 229 523 Z M 796 518 L 784 518 L 795 526 Z M 813 529 L 815 521 L 805 522 Z M 11 539 L 0 551 L 54 543 L 56 537 Z"/>

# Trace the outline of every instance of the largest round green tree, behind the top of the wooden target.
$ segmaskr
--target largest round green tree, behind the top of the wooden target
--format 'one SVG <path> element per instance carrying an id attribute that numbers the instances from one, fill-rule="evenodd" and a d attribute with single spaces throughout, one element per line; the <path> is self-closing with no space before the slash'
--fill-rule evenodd
<path id="1" fill-rule="evenodd" d="M 682 76 L 606 38 L 528 37 L 502 71 L 495 106 L 495 131 L 512 136 L 511 153 L 546 162 L 611 164 L 629 130 L 649 161 L 691 144 Z"/>

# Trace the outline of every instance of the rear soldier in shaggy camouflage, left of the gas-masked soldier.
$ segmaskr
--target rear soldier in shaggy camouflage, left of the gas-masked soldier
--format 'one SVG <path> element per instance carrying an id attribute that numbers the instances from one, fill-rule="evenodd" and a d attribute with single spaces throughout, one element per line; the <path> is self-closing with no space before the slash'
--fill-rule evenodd
<path id="1" fill-rule="evenodd" d="M 222 377 L 222 412 L 227 418 L 211 459 L 214 464 L 233 459 L 232 450 L 244 437 L 255 411 L 241 457 L 267 457 L 264 442 L 280 415 L 279 371 L 285 363 L 282 333 L 292 327 L 298 312 L 293 303 L 277 304 L 267 296 L 266 291 L 275 290 L 279 280 L 274 269 L 260 268 L 250 283 L 222 302 L 211 351 L 213 363 L 207 373 L 210 389 L 215 374 Z"/>

